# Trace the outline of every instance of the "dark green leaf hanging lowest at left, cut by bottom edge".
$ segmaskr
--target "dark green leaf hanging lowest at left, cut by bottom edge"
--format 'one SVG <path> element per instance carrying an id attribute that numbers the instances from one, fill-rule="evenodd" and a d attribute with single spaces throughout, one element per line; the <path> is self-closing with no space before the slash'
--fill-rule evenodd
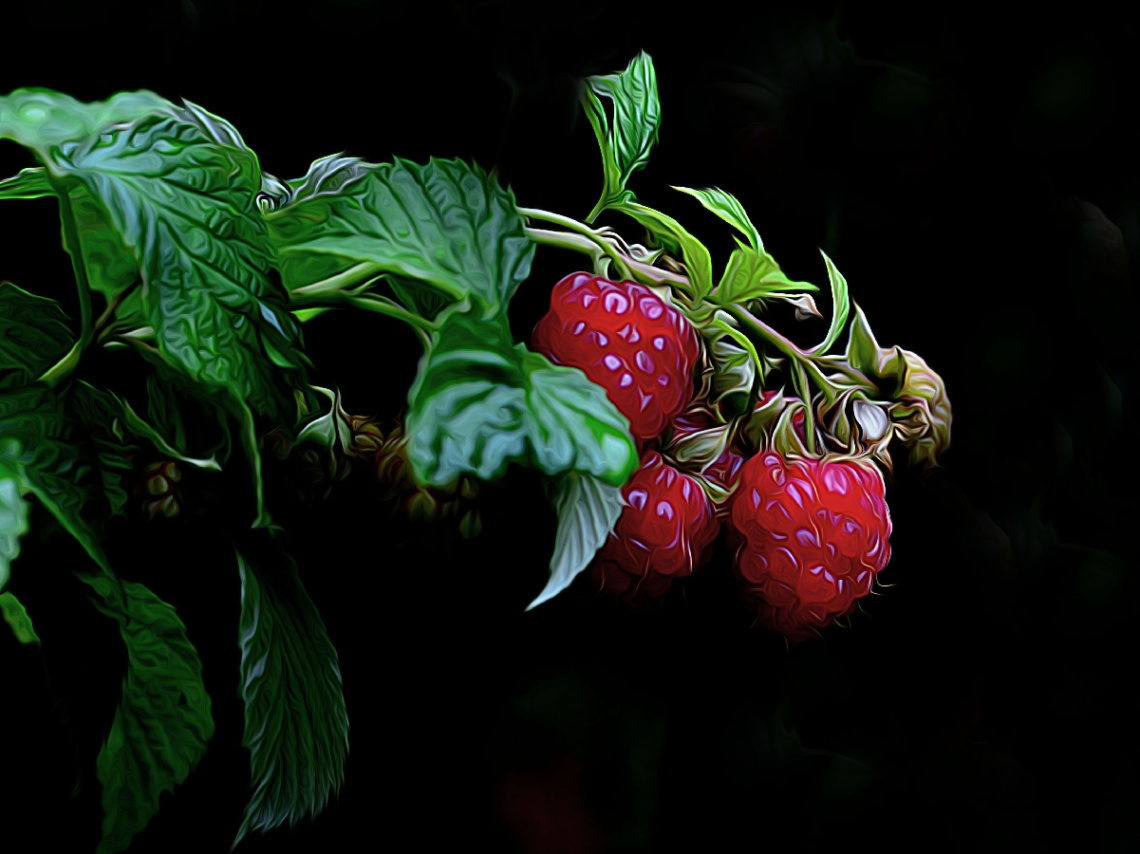
<path id="1" fill-rule="evenodd" d="M 111 732 L 96 758 L 103 783 L 97 854 L 124 852 L 158 812 L 162 792 L 182 783 L 213 735 L 202 661 L 174 609 L 141 584 L 103 572 L 81 575 L 119 623 L 128 669 Z"/>

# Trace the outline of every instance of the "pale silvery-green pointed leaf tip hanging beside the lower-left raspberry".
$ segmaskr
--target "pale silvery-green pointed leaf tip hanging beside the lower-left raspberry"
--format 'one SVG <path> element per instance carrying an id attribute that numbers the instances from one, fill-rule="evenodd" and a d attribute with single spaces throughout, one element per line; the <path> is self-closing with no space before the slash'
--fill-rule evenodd
<path id="1" fill-rule="evenodd" d="M 528 611 L 554 599 L 589 566 L 625 506 L 621 487 L 578 472 L 559 475 L 551 493 L 551 502 L 559 514 L 551 579 L 535 601 L 527 605 Z"/>

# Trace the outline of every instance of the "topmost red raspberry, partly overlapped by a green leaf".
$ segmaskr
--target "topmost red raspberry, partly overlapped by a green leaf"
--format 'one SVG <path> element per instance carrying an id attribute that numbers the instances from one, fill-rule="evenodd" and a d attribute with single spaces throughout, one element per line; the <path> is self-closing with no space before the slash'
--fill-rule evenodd
<path id="1" fill-rule="evenodd" d="M 554 286 L 531 349 L 604 388 L 642 442 L 689 406 L 700 361 L 697 331 L 677 309 L 644 285 L 588 273 Z"/>

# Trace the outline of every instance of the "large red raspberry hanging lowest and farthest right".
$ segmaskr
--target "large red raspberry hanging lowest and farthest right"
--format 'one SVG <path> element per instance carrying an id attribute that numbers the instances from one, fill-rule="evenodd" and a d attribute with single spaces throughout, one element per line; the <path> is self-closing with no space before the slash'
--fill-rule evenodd
<path id="1" fill-rule="evenodd" d="M 800 641 L 855 610 L 890 560 L 885 491 L 864 463 L 771 450 L 744 463 L 730 537 L 763 625 Z"/>

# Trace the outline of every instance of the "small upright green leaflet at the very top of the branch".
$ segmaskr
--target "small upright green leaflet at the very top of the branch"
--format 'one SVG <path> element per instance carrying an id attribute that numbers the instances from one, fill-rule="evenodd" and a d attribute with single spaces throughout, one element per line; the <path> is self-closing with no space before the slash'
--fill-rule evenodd
<path id="1" fill-rule="evenodd" d="M 612 104 L 613 122 L 606 116 L 602 98 Z M 649 162 L 661 127 L 661 104 L 657 96 L 657 73 L 649 54 L 642 51 L 620 74 L 587 78 L 581 87 L 581 104 L 602 151 L 605 182 L 602 196 L 586 218 L 593 223 L 608 206 L 632 194 L 626 182 Z"/>

